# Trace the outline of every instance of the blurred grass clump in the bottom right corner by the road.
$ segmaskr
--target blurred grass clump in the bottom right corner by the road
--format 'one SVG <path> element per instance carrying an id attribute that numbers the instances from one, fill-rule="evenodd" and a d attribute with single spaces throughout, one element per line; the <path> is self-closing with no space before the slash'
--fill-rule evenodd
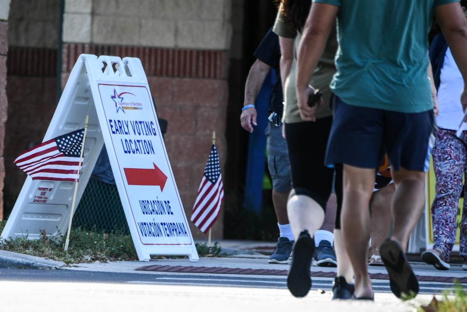
<path id="1" fill-rule="evenodd" d="M 441 300 L 435 297 L 428 306 L 422 306 L 418 312 L 467 312 L 467 293 L 460 283 L 454 283 L 454 289 L 445 291 Z"/>

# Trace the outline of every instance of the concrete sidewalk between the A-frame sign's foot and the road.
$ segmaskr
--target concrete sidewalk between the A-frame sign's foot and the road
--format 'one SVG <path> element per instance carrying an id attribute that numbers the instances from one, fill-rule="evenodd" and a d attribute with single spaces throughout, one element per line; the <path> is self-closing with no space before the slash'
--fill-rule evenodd
<path id="1" fill-rule="evenodd" d="M 204 243 L 204 242 L 198 242 Z M 96 270 L 108 272 L 126 272 L 126 273 L 148 273 L 147 271 L 135 271 L 144 266 L 153 266 L 154 272 L 196 272 L 209 273 L 219 272 L 223 274 L 228 272 L 225 269 L 240 269 L 243 271 L 238 274 L 259 274 L 259 275 L 285 275 L 289 268 L 288 264 L 270 264 L 268 263 L 269 256 L 274 249 L 275 242 L 254 242 L 254 241 L 219 241 L 222 247 L 221 252 L 228 251 L 227 257 L 210 258 L 201 257 L 198 262 L 190 262 L 188 259 L 161 259 L 151 260 L 149 262 L 140 261 L 117 261 L 109 263 L 81 263 L 73 265 L 75 270 Z M 438 281 L 451 283 L 452 280 L 459 279 L 465 283 L 467 287 L 467 271 L 462 270 L 462 265 L 451 264 L 449 271 L 436 270 L 432 265 L 423 262 L 411 262 L 415 274 L 421 277 L 421 280 Z M 245 271 L 249 270 L 249 271 Z M 223 272 L 223 273 L 221 273 Z M 336 272 L 335 268 L 327 267 L 311 267 L 312 276 L 333 277 Z M 384 266 L 369 266 L 369 273 L 372 278 L 386 279 L 387 271 Z M 237 273 L 231 273 L 237 274 Z"/>

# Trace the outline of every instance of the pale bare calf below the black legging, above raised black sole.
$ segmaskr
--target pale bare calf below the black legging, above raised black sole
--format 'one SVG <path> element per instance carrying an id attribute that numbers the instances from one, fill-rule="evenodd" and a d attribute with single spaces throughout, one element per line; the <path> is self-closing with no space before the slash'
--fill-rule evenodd
<path id="1" fill-rule="evenodd" d="M 313 236 L 324 221 L 323 208 L 305 195 L 294 195 L 289 198 L 287 214 L 295 240 L 304 230 L 308 230 L 308 233 Z"/>

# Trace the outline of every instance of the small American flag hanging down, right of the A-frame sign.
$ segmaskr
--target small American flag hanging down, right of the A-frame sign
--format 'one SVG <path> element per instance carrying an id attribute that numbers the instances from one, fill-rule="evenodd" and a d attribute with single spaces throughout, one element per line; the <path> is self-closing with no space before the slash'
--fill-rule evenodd
<path id="1" fill-rule="evenodd" d="M 216 222 L 223 199 L 224 186 L 220 172 L 219 155 L 217 155 L 216 145 L 213 144 L 191 215 L 191 221 L 203 233 L 206 233 Z"/>

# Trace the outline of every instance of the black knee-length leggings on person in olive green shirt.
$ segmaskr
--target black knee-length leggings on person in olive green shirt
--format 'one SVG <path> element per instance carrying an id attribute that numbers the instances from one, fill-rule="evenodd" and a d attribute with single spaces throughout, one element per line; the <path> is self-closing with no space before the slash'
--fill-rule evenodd
<path id="1" fill-rule="evenodd" d="M 290 195 L 305 195 L 316 201 L 324 211 L 332 191 L 334 169 L 324 165 L 327 140 L 331 130 L 332 117 L 316 122 L 304 121 L 286 123 L 286 139 L 292 191 Z M 335 190 L 337 211 L 335 228 L 341 228 L 342 207 L 342 166 L 336 165 Z"/>

